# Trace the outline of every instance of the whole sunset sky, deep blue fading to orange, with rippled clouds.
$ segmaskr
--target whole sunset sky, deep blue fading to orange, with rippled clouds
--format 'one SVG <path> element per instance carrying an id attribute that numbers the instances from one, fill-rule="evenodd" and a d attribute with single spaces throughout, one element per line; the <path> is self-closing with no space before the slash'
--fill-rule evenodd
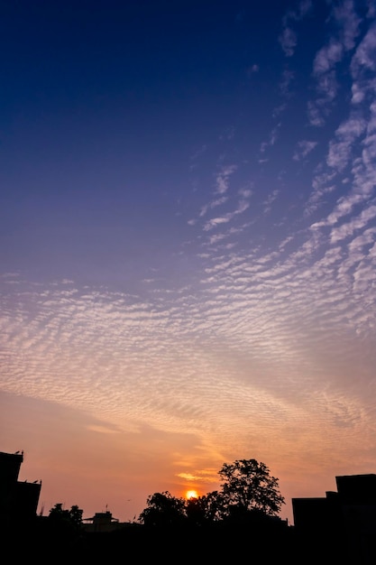
<path id="1" fill-rule="evenodd" d="M 133 520 L 376 472 L 374 0 L 3 0 L 0 450 Z"/>

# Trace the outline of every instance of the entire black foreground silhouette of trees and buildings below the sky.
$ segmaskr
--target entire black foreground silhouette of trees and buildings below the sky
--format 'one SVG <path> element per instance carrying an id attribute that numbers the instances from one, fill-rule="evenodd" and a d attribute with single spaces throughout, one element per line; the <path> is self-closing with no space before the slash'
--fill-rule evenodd
<path id="1" fill-rule="evenodd" d="M 0 452 L 0 542 L 6 562 L 375 565 L 376 475 L 335 477 L 337 491 L 293 498 L 278 516 L 278 479 L 256 459 L 224 464 L 219 491 L 184 500 L 154 493 L 135 523 L 77 505 L 36 514 L 41 481 L 19 481 L 23 452 Z"/>

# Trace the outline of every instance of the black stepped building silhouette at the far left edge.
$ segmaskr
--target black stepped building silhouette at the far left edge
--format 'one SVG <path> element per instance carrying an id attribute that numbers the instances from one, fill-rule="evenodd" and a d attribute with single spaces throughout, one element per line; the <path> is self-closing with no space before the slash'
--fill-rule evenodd
<path id="1" fill-rule="evenodd" d="M 0 452 L 0 521 L 22 523 L 36 516 L 41 481 L 19 481 L 23 451 Z"/>

